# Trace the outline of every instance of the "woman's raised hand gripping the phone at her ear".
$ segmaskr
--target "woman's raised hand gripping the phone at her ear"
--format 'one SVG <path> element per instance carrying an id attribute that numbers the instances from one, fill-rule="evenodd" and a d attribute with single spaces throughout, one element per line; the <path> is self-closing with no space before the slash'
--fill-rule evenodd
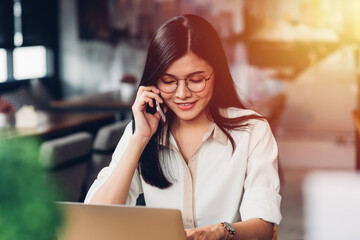
<path id="1" fill-rule="evenodd" d="M 150 140 L 155 133 L 161 114 L 156 112 L 154 114 L 146 111 L 146 106 L 156 108 L 154 101 L 163 103 L 164 101 L 159 96 L 160 91 L 155 86 L 140 86 L 136 94 L 135 102 L 132 106 L 132 111 L 135 119 L 134 135 L 141 136 Z M 166 111 L 166 108 L 164 109 Z"/>

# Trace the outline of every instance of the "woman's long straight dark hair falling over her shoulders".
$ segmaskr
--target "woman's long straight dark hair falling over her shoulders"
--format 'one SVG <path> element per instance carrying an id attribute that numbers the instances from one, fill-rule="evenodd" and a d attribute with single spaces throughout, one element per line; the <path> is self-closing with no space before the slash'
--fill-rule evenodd
<path id="1" fill-rule="evenodd" d="M 249 119 L 261 119 L 258 115 L 248 115 L 237 118 L 222 116 L 222 108 L 236 107 L 245 109 L 239 99 L 231 77 L 224 49 L 215 29 L 204 18 L 197 15 L 182 15 L 174 17 L 162 25 L 151 39 L 140 86 L 156 85 L 160 75 L 176 60 L 186 53 L 192 52 L 205 60 L 214 70 L 214 92 L 207 107 L 208 117 L 226 134 L 233 149 L 234 139 L 229 131 L 243 129 L 248 126 Z M 150 185 L 164 189 L 172 183 L 165 176 L 166 165 L 160 164 L 160 150 L 169 150 L 170 127 L 176 115 L 169 109 L 167 128 L 160 121 L 155 134 L 143 151 L 138 164 L 143 179 Z M 135 124 L 133 121 L 133 131 Z M 165 141 L 167 149 L 158 144 Z M 170 176 L 170 175 L 168 175 Z"/>

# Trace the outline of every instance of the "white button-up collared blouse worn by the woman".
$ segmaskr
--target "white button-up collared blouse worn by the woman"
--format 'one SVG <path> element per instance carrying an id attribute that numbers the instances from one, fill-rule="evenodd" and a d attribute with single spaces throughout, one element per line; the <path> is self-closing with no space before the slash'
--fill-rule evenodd
<path id="1" fill-rule="evenodd" d="M 226 112 L 229 118 L 256 114 L 237 108 Z M 171 176 L 168 179 L 173 179 L 173 185 L 167 189 L 153 187 L 136 170 L 126 204 L 135 205 L 138 195 L 144 193 L 147 207 L 182 211 L 185 228 L 252 218 L 279 224 L 282 217 L 277 145 L 266 121 L 249 123 L 246 130 L 230 131 L 236 144 L 234 151 L 227 136 L 212 123 L 188 164 L 170 136 L 170 158 L 160 159 L 161 164 L 166 161 Z M 85 203 L 106 182 L 120 160 L 126 161 L 121 158 L 131 135 L 130 123 L 110 165 L 100 171 L 92 184 Z"/>

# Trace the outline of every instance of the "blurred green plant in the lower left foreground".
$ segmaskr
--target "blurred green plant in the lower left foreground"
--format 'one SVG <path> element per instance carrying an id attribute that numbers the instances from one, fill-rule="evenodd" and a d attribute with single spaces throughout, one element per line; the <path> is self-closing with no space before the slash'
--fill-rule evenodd
<path id="1" fill-rule="evenodd" d="M 45 183 L 35 139 L 0 140 L 0 239 L 55 239 L 55 185 Z"/>

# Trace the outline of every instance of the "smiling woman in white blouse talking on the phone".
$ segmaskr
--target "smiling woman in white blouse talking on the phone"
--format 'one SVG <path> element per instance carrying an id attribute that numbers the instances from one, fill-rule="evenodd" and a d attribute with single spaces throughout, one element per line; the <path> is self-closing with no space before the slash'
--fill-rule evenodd
<path id="1" fill-rule="evenodd" d="M 148 113 L 147 105 L 161 104 Z M 237 97 L 220 39 L 196 15 L 154 34 L 134 121 L 86 203 L 182 210 L 187 239 L 271 239 L 281 220 L 277 146 Z"/>

